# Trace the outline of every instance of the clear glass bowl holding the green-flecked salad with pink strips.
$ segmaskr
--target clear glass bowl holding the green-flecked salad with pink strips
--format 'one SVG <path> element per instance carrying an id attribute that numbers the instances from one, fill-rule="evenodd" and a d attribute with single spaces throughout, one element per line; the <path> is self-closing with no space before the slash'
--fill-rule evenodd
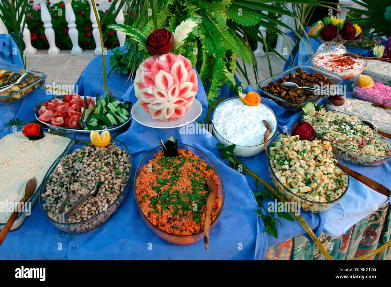
<path id="1" fill-rule="evenodd" d="M 335 111 L 332 109 L 326 109 L 329 112 L 335 112 L 337 114 L 352 116 L 350 114 L 346 114 L 346 112 Z M 304 121 L 304 114 L 301 113 L 301 120 Z M 365 125 L 363 123 L 363 125 Z M 322 137 L 320 134 L 316 134 L 317 137 Z M 330 141 L 329 138 L 323 137 L 327 141 Z M 334 141 L 330 141 L 333 148 L 339 152 L 341 157 L 346 162 L 350 162 L 352 164 L 357 164 L 359 166 L 380 166 L 386 163 L 389 159 L 391 159 L 391 155 L 368 155 L 366 153 L 357 152 L 356 150 L 352 150 L 350 148 L 346 148 L 341 143 L 336 143 Z"/>

